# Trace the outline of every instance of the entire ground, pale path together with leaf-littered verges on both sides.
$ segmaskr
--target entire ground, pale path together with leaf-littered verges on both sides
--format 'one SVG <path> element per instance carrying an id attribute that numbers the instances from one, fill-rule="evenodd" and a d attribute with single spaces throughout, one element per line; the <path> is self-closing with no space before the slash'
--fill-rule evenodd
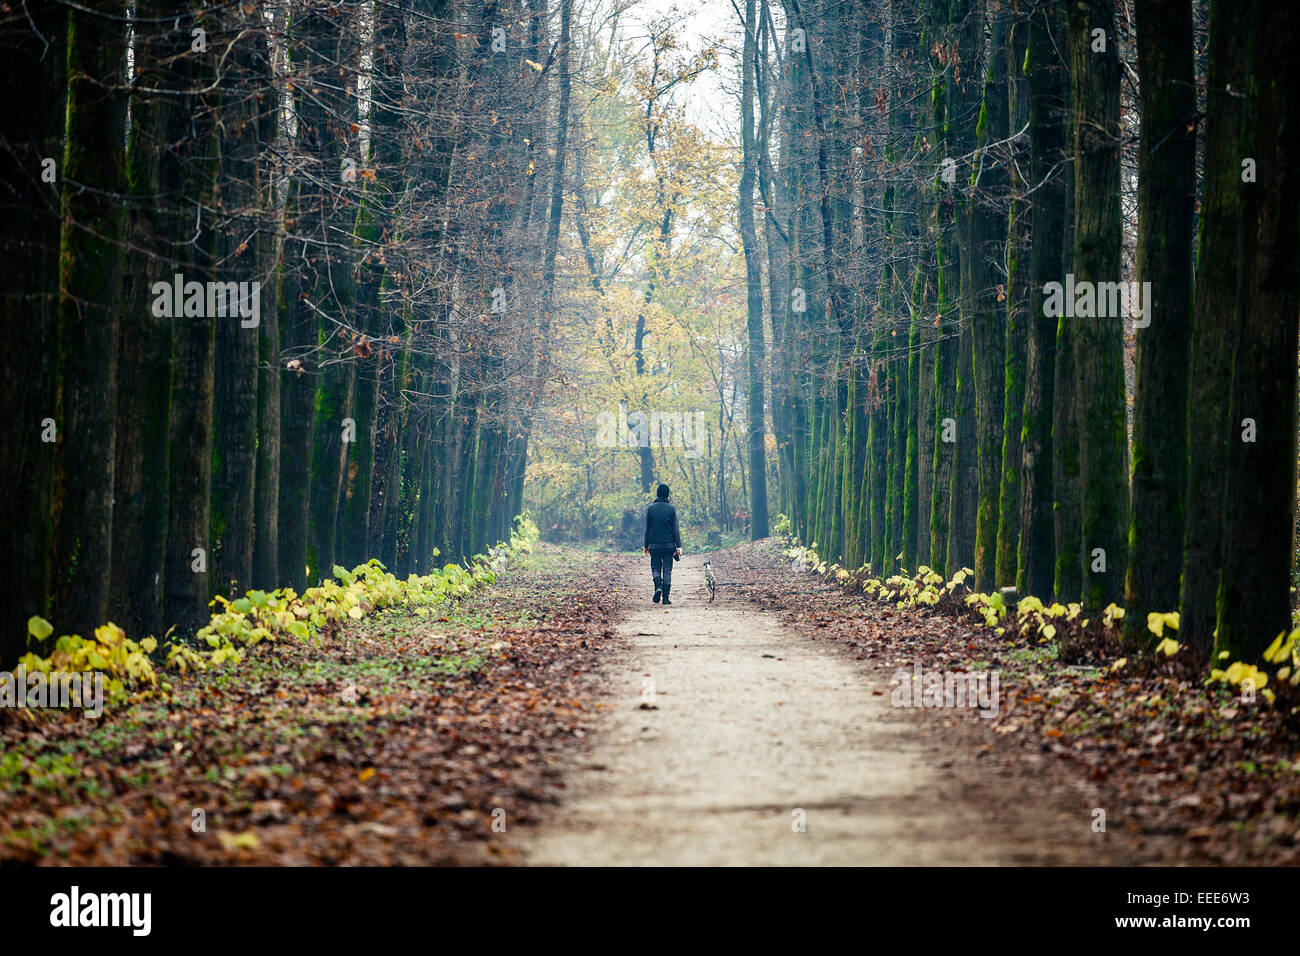
<path id="1" fill-rule="evenodd" d="M 705 555 L 662 607 L 641 555 L 542 545 L 454 606 L 98 721 L 0 710 L 0 862 L 1296 861 L 1295 741 L 1249 715 L 883 607 L 772 541 L 708 557 L 714 604 Z M 996 715 L 892 706 L 914 663 L 996 669 Z"/>

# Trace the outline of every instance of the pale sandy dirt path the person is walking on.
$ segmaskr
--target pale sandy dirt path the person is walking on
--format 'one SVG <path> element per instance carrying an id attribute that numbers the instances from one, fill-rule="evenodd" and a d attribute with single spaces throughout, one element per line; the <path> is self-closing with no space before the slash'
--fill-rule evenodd
<path id="1" fill-rule="evenodd" d="M 619 628 L 627 650 L 606 714 L 569 769 L 567 800 L 530 834 L 529 862 L 1074 861 L 1050 836 L 1027 848 L 1022 810 L 996 793 L 954 800 L 952 754 L 890 708 L 888 685 L 859 662 L 725 589 L 705 604 L 699 557 L 675 578 L 672 607 L 649 593 L 636 607 L 649 575 L 628 561 L 636 609 Z"/>

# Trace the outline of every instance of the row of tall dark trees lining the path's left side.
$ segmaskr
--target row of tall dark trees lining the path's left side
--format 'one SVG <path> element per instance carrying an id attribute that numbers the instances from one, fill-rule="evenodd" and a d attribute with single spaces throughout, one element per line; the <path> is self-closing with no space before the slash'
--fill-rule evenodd
<path id="1" fill-rule="evenodd" d="M 161 633 L 503 538 L 551 368 L 571 1 L 0 17 L 0 658 L 31 614 Z"/>

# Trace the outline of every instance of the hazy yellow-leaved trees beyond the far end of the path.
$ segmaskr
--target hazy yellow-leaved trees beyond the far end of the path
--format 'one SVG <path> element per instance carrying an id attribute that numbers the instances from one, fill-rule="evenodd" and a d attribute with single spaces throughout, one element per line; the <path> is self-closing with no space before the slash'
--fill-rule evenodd
<path id="1" fill-rule="evenodd" d="M 744 529 L 755 472 L 738 170 L 725 134 L 688 111 L 720 44 L 690 36 L 676 10 L 619 25 L 620 7 L 588 5 L 575 36 L 563 358 L 534 420 L 525 506 L 551 538 L 615 532 L 640 549 L 659 481 L 702 542 L 706 529 Z"/>

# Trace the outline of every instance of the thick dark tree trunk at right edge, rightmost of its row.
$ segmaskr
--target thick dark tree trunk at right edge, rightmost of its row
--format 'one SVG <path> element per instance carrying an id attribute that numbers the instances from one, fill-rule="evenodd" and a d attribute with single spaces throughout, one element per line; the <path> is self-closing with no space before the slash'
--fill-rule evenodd
<path id="1" fill-rule="evenodd" d="M 1300 39 L 1290 9 L 1251 3 L 1254 155 L 1258 182 L 1243 183 L 1238 342 L 1225 496 L 1217 650 L 1258 659 L 1291 627 L 1296 509 L 1296 349 L 1300 333 L 1300 77 L 1288 57 Z"/>

